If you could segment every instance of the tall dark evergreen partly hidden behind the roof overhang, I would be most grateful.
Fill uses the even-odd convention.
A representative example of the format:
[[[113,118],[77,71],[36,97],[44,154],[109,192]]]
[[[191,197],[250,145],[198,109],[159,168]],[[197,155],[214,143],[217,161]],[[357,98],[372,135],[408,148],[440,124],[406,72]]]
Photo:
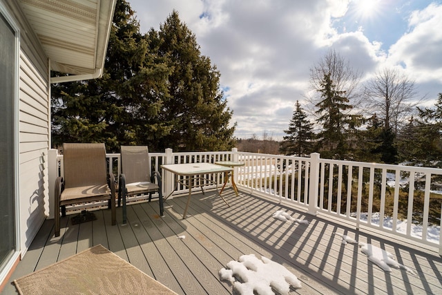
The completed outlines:
[[[135,141],[131,99],[147,50],[139,31],[131,7],[117,1],[102,78],[52,86],[52,144],[104,142],[115,152]]]

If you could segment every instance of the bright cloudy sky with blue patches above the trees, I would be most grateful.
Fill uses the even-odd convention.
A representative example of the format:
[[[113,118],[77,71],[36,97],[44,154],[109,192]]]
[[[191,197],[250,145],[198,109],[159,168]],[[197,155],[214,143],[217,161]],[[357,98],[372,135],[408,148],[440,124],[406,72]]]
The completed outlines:
[[[238,139],[282,140],[310,69],[335,50],[362,73],[383,68],[415,82],[421,106],[442,93],[442,0],[128,0],[140,31],[173,10],[220,70]],[[314,118],[311,117],[314,122]]]

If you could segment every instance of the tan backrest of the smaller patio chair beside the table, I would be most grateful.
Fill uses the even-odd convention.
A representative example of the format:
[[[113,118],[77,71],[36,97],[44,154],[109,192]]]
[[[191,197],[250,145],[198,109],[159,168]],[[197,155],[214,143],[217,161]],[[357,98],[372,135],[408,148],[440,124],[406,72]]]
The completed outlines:
[[[121,146],[122,173],[126,183],[151,181],[147,146]]]

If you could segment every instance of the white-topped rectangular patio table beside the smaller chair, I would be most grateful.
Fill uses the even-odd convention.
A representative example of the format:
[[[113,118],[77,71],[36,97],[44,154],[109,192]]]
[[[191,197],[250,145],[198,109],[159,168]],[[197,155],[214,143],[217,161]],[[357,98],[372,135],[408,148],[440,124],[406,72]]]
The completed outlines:
[[[161,165],[161,168],[175,175],[175,188],[171,193],[169,193],[169,196],[167,196],[164,200],[167,200],[172,195],[172,193],[176,191],[178,184],[182,184],[184,187],[189,188],[189,197],[187,198],[186,208],[184,209],[184,213],[182,215],[183,219],[186,218],[187,209],[189,208],[189,203],[191,201],[193,182],[195,180],[200,181],[199,184],[203,194],[204,194],[204,189],[202,188],[203,181],[215,183],[216,191],[218,192],[218,195],[222,198],[220,192],[218,191],[218,182],[209,179],[205,175],[210,175],[210,174],[213,175],[216,173],[225,173],[233,171],[233,168],[231,167],[221,166],[211,163],[164,164]],[[184,178],[180,179],[178,178],[178,176],[184,176]],[[230,207],[229,203],[224,198],[222,198],[222,200],[224,200],[227,206]]]

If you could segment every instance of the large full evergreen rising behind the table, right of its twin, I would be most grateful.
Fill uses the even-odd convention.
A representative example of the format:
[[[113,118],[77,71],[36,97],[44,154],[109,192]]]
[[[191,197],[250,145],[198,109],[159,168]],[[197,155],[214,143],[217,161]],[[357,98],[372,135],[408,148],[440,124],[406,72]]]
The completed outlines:
[[[151,30],[151,44],[168,58],[172,69],[168,78],[169,97],[162,104],[160,122],[170,133],[162,138],[161,149],[182,151],[218,151],[233,147],[229,127],[232,112],[220,91],[220,72],[209,57],[200,54],[195,35],[173,11],[160,26]]]

